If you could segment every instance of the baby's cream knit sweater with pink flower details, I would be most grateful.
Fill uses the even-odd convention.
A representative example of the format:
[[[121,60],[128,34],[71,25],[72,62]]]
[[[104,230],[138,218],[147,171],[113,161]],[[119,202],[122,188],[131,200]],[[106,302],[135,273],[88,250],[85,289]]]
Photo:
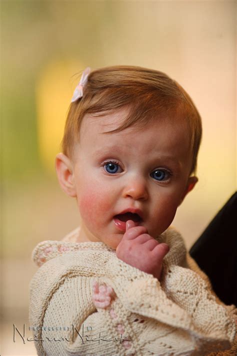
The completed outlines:
[[[170,247],[160,282],[103,242],[39,243],[29,316],[38,355],[204,356],[230,348],[234,320],[187,268],[181,236],[168,228],[157,240]]]

